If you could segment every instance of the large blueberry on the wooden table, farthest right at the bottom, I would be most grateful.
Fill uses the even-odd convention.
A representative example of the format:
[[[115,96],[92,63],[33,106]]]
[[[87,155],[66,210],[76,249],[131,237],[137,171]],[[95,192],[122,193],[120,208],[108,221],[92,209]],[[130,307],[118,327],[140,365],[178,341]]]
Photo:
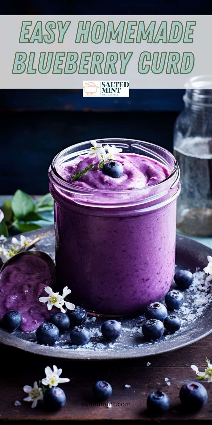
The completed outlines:
[[[180,401],[188,410],[198,410],[208,399],[206,388],[199,382],[189,382],[180,389]]]

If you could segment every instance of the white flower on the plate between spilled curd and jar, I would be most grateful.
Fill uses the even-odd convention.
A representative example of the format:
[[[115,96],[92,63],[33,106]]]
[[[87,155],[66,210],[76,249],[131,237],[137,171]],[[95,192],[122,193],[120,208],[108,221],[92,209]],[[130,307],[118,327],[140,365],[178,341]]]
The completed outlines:
[[[63,289],[63,294],[59,295],[59,292],[53,292],[53,290],[50,288],[50,286],[45,287],[45,292],[49,295],[48,297],[40,297],[39,301],[41,303],[47,303],[47,309],[51,310],[53,306],[57,307],[61,310],[62,313],[65,313],[66,310],[64,310],[63,305],[65,304],[66,308],[68,310],[74,310],[75,305],[73,303],[69,303],[68,301],[65,301],[64,298],[71,293],[71,290],[68,289],[67,286]]]

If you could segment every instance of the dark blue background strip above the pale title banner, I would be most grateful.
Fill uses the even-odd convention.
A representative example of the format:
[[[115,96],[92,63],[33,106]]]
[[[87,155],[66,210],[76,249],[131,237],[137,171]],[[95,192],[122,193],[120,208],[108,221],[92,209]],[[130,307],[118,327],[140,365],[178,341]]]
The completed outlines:
[[[1,14],[210,14],[211,0],[10,0]]]

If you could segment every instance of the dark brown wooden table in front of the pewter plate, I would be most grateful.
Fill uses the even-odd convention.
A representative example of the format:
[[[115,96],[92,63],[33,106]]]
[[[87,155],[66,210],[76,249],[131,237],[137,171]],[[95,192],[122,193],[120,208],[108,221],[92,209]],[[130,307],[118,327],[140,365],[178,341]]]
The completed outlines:
[[[191,364],[200,369],[205,367],[206,357],[212,355],[212,335],[198,343],[178,351],[141,360],[116,361],[68,361],[39,357],[1,346],[0,373],[0,419],[5,420],[95,420],[95,419],[135,419],[143,422],[211,420],[212,383],[204,383],[208,390],[208,402],[200,411],[188,414],[179,401],[179,390],[185,381],[196,380]],[[147,366],[147,362],[151,365]],[[31,409],[31,403],[23,402],[24,385],[33,385],[35,380],[45,377],[44,368],[56,363],[63,369],[62,376],[70,382],[62,384],[67,402],[58,412],[45,412],[42,403]],[[169,378],[168,386],[165,378]],[[97,380],[106,380],[113,387],[112,408],[89,406],[93,403],[91,388]],[[126,388],[125,385],[131,385]],[[153,390],[162,389],[170,397],[170,410],[159,418],[152,417],[146,410],[146,399]],[[14,401],[22,402],[14,406]],[[122,403],[122,405],[118,405]]]

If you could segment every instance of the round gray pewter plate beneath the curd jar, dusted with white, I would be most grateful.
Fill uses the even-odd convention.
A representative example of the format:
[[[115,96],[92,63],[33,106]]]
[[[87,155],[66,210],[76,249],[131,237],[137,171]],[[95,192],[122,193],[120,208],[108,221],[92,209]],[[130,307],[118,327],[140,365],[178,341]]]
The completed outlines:
[[[31,240],[37,235],[41,235],[42,239],[33,249],[45,251],[54,259],[54,227],[46,227],[25,234]],[[4,241],[4,245],[10,247],[11,238]],[[10,334],[0,329],[0,343],[34,354],[73,360],[149,357],[192,344],[212,332],[212,282],[205,282],[205,274],[202,271],[207,265],[207,255],[212,256],[212,249],[185,236],[176,236],[176,270],[190,269],[192,273],[195,273],[195,278],[193,285],[184,292],[184,304],[176,313],[181,318],[182,326],[175,334],[165,333],[156,342],[145,342],[141,330],[144,316],[141,315],[119,319],[123,327],[122,335],[116,341],[109,343],[100,331],[101,324],[106,319],[89,316],[86,326],[91,331],[91,339],[86,346],[73,346],[68,331],[53,347],[50,347],[39,345],[35,332],[25,334],[17,330]],[[176,288],[175,283],[173,288]]]

